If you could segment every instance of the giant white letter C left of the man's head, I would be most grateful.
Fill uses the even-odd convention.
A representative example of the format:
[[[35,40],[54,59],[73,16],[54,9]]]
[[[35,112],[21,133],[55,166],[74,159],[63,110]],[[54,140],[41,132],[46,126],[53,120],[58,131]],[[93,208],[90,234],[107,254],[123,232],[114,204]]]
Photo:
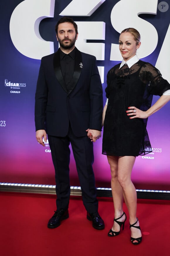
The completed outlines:
[[[14,9],[10,19],[11,40],[16,49],[32,59],[54,52],[54,43],[39,33],[42,19],[54,17],[55,0],[25,0]]]

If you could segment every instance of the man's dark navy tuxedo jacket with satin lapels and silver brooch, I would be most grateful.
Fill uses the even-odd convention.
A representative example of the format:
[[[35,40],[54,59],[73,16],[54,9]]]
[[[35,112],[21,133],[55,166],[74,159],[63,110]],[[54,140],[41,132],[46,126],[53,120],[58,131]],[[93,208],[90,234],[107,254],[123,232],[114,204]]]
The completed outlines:
[[[35,94],[35,128],[65,137],[69,122],[74,135],[101,130],[103,91],[96,58],[76,49],[72,83],[67,91],[60,69],[59,50],[41,60]]]

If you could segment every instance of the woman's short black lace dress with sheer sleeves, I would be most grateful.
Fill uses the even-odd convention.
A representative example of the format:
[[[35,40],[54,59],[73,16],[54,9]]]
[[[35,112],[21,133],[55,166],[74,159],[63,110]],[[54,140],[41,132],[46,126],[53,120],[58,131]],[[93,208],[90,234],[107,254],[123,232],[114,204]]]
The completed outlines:
[[[131,68],[125,64],[107,74],[108,106],[103,128],[102,154],[138,156],[152,152],[147,134],[147,119],[130,119],[126,111],[135,106],[142,111],[151,107],[152,97],[170,89],[158,69],[139,60]]]

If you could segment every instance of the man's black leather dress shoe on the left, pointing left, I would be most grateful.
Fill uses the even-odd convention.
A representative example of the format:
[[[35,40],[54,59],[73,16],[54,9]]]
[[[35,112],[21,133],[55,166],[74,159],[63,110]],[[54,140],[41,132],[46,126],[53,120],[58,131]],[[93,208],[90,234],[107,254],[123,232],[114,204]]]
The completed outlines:
[[[69,217],[68,210],[57,210],[52,218],[49,220],[47,227],[55,228],[60,226],[61,220],[66,220]]]

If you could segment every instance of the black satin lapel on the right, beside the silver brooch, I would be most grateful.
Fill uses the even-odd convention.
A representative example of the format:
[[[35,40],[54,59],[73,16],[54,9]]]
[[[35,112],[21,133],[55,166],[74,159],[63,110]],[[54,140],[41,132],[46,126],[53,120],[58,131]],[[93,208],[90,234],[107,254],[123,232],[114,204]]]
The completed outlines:
[[[81,74],[81,67],[80,67],[80,63],[82,64],[82,56],[81,56],[81,51],[79,51],[77,48],[76,48],[76,56],[75,56],[75,67],[74,67],[74,74],[73,74],[73,77],[72,77],[72,81],[71,81],[71,84],[69,86],[69,92],[72,92],[72,90],[74,89],[74,87],[76,86],[78,80],[79,80],[79,77],[80,77],[80,74]]]

